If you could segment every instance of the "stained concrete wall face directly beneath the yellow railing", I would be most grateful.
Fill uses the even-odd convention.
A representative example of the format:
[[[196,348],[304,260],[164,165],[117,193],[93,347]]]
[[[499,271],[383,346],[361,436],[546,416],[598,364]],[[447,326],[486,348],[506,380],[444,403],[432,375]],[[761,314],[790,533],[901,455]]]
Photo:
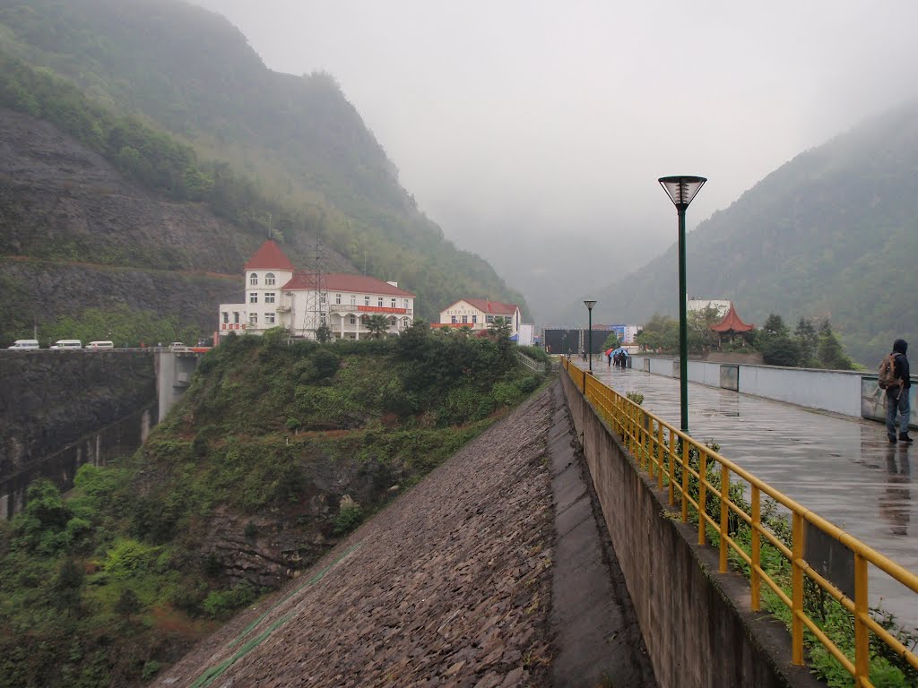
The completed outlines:
[[[610,538],[661,688],[818,686],[790,664],[777,621],[750,611],[742,576],[717,572],[717,552],[667,515],[610,428],[561,374]]]

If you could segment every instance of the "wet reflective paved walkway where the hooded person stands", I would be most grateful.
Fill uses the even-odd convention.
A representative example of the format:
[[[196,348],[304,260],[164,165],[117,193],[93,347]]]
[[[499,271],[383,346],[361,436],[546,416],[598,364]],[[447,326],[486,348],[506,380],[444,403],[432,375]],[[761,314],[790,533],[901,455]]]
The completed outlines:
[[[600,358],[601,361],[601,358]],[[576,362],[581,368],[587,364]],[[593,373],[678,427],[679,381],[643,371]],[[873,549],[918,571],[918,442],[890,445],[879,423],[823,414],[689,383],[689,432],[723,456],[811,508]],[[870,604],[918,627],[918,598],[881,571],[870,573]]]

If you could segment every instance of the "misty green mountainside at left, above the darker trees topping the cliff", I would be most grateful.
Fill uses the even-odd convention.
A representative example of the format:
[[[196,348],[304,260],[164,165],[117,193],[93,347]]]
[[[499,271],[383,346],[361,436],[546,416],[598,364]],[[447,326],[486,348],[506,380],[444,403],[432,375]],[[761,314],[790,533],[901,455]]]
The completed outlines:
[[[106,153],[135,178],[206,199],[246,231],[270,224],[297,265],[311,265],[320,233],[353,264],[365,260],[370,274],[418,294],[428,319],[463,296],[522,304],[420,213],[329,75],[267,70],[221,17],[177,0],[19,0],[0,8],[0,50],[62,75],[95,107],[126,118],[118,121],[168,130],[185,142],[179,157],[190,147],[200,160],[226,161],[169,158],[175,169],[157,175],[143,146],[116,141]],[[6,102],[30,105],[14,95]],[[75,133],[66,117],[63,125]],[[142,138],[158,145],[161,136]]]

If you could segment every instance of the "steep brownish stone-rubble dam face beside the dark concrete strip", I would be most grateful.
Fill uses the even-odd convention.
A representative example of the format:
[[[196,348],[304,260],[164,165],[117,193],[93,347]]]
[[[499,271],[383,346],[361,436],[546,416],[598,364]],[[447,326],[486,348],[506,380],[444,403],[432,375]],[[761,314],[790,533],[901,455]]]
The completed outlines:
[[[156,685],[548,684],[552,410],[521,405]]]

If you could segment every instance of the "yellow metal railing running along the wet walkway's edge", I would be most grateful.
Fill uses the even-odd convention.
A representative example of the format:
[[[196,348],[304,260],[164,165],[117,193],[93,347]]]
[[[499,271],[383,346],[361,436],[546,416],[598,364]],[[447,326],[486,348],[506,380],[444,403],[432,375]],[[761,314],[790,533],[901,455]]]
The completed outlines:
[[[700,444],[665,420],[645,411],[626,396],[618,394],[609,386],[600,383],[586,371],[577,368],[571,361],[562,360],[562,366],[580,391],[593,405],[597,414],[621,438],[625,448],[632,454],[638,467],[647,471],[659,490],[665,488],[670,506],[678,502],[683,522],[689,515],[698,517],[698,542],[708,544],[707,534],[713,534],[712,544],[720,549],[720,571],[727,571],[731,552],[749,567],[752,594],[752,608],[761,607],[762,584],[764,583],[790,611],[791,660],[803,664],[804,628],[817,638],[823,647],[845,667],[858,687],[871,687],[869,680],[870,634],[873,633],[895,654],[918,670],[918,656],[902,644],[899,638],[882,627],[871,616],[868,608],[868,564],[901,583],[912,593],[918,594],[918,576],[904,569],[895,561],[869,548],[857,538],[845,533],[839,527],[812,513],[788,496],[762,482],[752,473],[710,447]],[[693,465],[694,464],[694,465]],[[719,467],[719,468],[718,468]],[[712,482],[711,472],[720,474],[720,480]],[[730,494],[733,477],[748,485],[750,503],[747,512],[744,505],[737,504]],[[718,484],[719,483],[719,484]],[[739,483],[742,484],[742,483]],[[762,495],[773,499],[786,508],[791,515],[790,546],[768,526],[762,518]],[[711,516],[709,502],[720,503],[719,513]],[[751,547],[746,551],[731,536],[731,518],[742,521],[751,529]],[[834,583],[827,580],[804,557],[804,527],[809,524],[834,538],[854,555],[854,599],[843,593]],[[710,528],[710,530],[709,530]],[[786,539],[786,538],[785,538]],[[790,565],[790,594],[762,567],[762,548],[770,545],[780,552]],[[831,595],[852,616],[854,631],[854,660],[851,660],[834,641],[828,638],[804,609],[804,581],[809,579],[826,594]]]

